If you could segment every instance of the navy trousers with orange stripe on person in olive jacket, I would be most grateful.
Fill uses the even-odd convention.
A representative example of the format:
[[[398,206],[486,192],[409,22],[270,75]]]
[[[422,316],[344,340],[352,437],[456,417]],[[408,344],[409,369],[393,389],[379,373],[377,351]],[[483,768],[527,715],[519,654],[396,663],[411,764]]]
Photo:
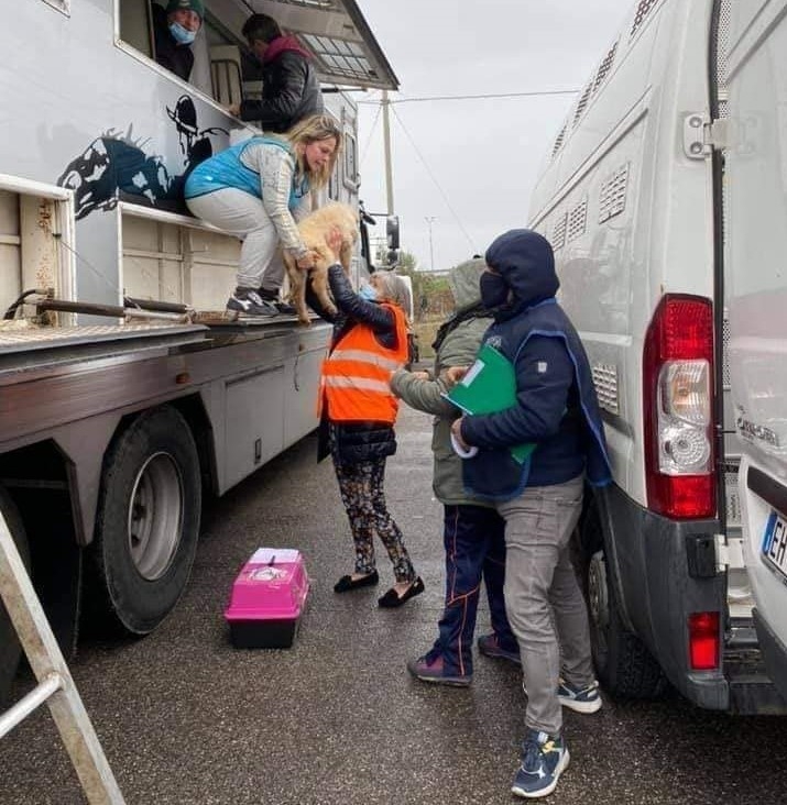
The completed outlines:
[[[446,606],[439,637],[429,659],[441,657],[447,675],[472,674],[472,641],[481,577],[502,648],[516,651],[516,638],[505,615],[505,521],[483,506],[446,506],[442,540],[446,549]]]

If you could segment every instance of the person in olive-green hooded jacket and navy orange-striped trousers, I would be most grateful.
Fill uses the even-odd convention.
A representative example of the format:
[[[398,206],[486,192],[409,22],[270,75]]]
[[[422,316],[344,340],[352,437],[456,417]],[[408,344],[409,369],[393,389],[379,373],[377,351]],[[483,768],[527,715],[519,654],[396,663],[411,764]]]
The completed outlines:
[[[479,291],[483,269],[483,260],[471,260],[451,269],[448,282],[456,312],[437,331],[434,373],[400,370],[391,377],[397,397],[435,417],[433,488],[444,506],[445,609],[435,644],[423,657],[411,660],[407,670],[424,682],[459,686],[472,680],[472,639],[482,576],[492,633],[478,639],[479,651],[520,664],[520,649],[503,599],[505,523],[493,504],[474,500],[462,487],[461,459],[450,443],[451,422],[460,411],[442,397],[448,390],[444,370],[471,363],[492,323]]]

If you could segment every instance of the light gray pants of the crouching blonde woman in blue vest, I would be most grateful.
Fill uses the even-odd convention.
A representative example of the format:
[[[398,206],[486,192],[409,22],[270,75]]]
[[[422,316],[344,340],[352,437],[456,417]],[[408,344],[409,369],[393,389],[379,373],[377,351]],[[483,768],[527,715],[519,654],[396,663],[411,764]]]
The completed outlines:
[[[227,187],[186,200],[197,218],[243,241],[238,266],[242,288],[278,290],[284,282],[284,263],[278,253],[278,234],[254,196]]]

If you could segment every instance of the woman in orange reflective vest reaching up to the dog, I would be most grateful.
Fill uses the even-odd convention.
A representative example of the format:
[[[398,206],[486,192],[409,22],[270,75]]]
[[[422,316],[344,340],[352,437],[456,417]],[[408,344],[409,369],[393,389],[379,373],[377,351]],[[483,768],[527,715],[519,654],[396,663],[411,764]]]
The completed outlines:
[[[332,232],[327,240],[338,252],[340,233]],[[379,583],[376,533],[395,578],[378,604],[400,607],[424,592],[402,531],[385,505],[384,492],[385,460],[396,452],[394,423],[398,411],[389,378],[407,360],[407,286],[395,274],[375,272],[356,294],[338,262],[328,268],[328,282],[336,316],[323,308],[308,287],[307,301],[334,324],[331,348],[323,364],[320,409],[356,547],[354,571],[341,576],[334,591],[347,593]]]

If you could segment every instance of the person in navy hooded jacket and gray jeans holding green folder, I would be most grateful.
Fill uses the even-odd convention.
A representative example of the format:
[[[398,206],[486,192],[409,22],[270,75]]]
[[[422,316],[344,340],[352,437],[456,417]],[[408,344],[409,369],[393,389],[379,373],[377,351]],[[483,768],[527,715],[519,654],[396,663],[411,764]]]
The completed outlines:
[[[527,692],[518,796],[551,793],[568,765],[561,705],[601,707],[588,614],[569,555],[586,481],[610,482],[603,427],[579,335],[555,299],[560,285],[549,243],[511,230],[487,251],[481,298],[494,323],[483,343],[516,372],[517,405],[463,416],[452,433],[478,453],[462,464],[470,493],[493,500],[505,520],[505,607],[520,643]],[[462,370],[449,370],[457,379]],[[536,448],[524,464],[510,448]]]

